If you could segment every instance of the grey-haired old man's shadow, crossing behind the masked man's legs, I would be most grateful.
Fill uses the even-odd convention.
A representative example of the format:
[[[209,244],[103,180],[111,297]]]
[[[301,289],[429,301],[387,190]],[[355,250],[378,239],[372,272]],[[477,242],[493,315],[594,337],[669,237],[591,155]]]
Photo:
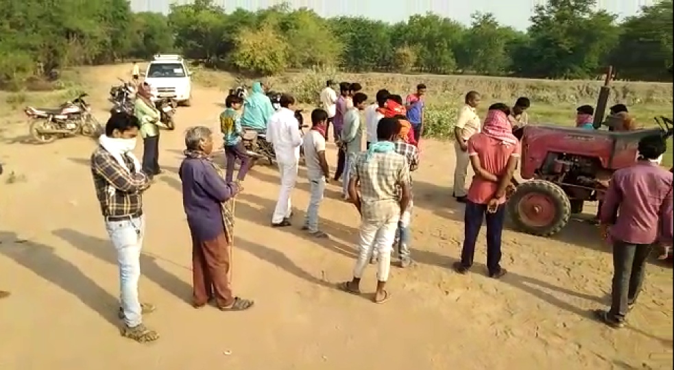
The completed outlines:
[[[110,240],[99,239],[95,236],[82,234],[81,232],[72,229],[56,230],[53,234],[66,240],[73,247],[80,249],[80,251],[117,266],[117,255],[115,249],[110,244]],[[176,296],[181,301],[191,304],[192,286],[160,267],[157,264],[156,259],[157,258],[154,256],[148,256],[145,253],[141,253],[142,275],[149,278],[149,280],[152,280],[155,284],[161,286],[165,291]]]

